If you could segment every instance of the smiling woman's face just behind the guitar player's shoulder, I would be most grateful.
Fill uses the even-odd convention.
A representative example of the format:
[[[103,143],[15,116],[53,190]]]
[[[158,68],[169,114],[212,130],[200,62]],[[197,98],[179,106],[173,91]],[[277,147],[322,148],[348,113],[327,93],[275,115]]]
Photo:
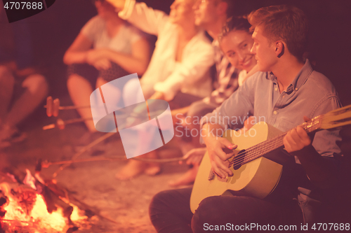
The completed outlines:
[[[257,61],[251,53],[253,38],[251,34],[243,30],[233,30],[220,41],[220,48],[228,57],[230,63],[237,69],[251,71]]]

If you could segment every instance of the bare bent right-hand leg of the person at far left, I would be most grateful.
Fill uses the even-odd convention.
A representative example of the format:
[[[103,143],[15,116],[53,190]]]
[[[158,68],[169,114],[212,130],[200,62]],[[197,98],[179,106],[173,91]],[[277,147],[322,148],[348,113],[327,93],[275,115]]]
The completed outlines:
[[[25,92],[15,101],[6,117],[6,122],[10,127],[15,127],[27,118],[48,94],[48,83],[40,74],[28,76],[22,82],[22,87],[25,88]]]

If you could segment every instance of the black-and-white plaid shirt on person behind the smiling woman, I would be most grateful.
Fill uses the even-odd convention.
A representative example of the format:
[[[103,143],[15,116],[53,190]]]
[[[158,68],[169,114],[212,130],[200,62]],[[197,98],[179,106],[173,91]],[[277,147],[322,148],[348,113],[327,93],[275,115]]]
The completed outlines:
[[[239,87],[239,70],[235,69],[219,48],[218,41],[212,43],[215,49],[215,62],[217,70],[217,80],[214,83],[215,90],[209,99],[211,104],[220,106]]]

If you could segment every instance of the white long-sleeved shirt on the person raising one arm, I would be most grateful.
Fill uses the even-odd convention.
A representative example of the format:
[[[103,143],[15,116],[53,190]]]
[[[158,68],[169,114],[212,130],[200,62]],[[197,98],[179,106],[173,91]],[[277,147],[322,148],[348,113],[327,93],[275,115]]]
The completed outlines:
[[[198,97],[211,94],[208,69],[214,63],[214,50],[204,31],[187,43],[182,62],[176,62],[177,25],[169,22],[166,13],[148,8],[145,3],[126,0],[119,17],[157,36],[150,64],[141,78],[146,96],[154,91],[163,92],[166,101],[170,101],[179,91]]]

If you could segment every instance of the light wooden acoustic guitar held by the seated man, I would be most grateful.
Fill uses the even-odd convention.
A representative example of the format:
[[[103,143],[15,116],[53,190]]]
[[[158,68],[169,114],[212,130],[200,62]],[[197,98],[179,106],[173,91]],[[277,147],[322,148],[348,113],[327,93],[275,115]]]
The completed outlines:
[[[319,115],[301,126],[307,133],[319,129],[333,129],[351,124],[351,105]],[[287,132],[258,122],[246,133],[228,129],[223,137],[237,145],[234,155],[228,160],[233,176],[227,181],[216,178],[211,169],[208,153],[204,155],[190,197],[192,213],[206,197],[231,195],[229,190],[240,191],[251,197],[263,199],[276,188],[282,176],[283,165],[263,157],[284,147]]]

